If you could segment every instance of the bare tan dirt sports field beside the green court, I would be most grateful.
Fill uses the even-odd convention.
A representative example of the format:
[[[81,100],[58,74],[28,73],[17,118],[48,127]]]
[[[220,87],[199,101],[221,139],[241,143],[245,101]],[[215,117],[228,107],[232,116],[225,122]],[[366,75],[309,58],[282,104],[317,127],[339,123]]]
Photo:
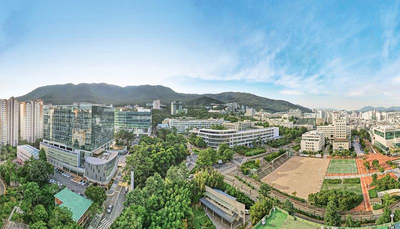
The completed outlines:
[[[296,191],[296,196],[306,199],[309,193],[319,191],[319,168],[323,180],[328,164],[329,159],[293,156],[263,177],[262,181],[274,184],[274,187],[289,194]]]

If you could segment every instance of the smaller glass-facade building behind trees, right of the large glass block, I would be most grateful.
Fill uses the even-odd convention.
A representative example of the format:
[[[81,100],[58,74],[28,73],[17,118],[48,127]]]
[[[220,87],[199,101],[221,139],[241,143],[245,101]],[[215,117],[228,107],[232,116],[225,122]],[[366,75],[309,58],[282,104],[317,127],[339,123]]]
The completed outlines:
[[[151,134],[151,111],[143,109],[143,111],[115,109],[114,112],[115,131],[127,130],[133,132],[136,136]]]

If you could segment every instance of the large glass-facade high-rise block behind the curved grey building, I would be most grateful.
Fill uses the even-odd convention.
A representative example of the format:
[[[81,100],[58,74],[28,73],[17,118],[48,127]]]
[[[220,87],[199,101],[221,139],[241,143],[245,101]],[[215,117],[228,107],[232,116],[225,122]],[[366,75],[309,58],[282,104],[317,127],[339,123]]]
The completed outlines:
[[[47,160],[83,173],[85,157],[107,149],[114,137],[114,108],[94,104],[43,107],[43,142]]]

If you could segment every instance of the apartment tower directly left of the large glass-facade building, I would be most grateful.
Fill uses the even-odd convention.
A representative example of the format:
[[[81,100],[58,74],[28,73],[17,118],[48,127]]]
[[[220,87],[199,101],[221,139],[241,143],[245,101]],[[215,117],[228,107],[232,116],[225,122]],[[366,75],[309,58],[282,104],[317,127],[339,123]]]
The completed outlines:
[[[43,100],[19,104],[19,139],[34,142],[43,137]]]

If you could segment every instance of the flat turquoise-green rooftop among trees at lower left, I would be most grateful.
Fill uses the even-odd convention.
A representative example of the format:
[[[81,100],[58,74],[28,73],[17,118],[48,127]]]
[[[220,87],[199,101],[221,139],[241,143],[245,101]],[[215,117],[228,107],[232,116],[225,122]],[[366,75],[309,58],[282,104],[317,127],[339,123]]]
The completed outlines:
[[[67,188],[56,193],[54,197],[62,202],[59,206],[65,206],[72,212],[72,219],[74,221],[79,220],[93,202]]]

